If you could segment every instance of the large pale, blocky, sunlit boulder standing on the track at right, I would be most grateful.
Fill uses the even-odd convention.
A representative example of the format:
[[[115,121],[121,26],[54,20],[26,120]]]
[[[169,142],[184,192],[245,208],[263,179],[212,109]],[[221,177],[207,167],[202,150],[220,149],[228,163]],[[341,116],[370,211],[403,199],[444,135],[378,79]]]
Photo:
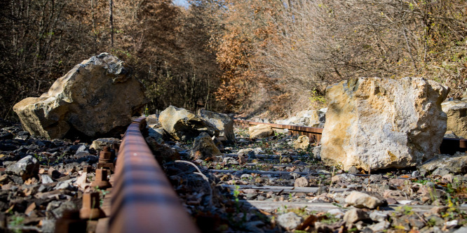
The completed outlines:
[[[441,102],[448,92],[424,78],[353,78],[327,87],[321,158],[345,170],[421,164],[446,132]]]

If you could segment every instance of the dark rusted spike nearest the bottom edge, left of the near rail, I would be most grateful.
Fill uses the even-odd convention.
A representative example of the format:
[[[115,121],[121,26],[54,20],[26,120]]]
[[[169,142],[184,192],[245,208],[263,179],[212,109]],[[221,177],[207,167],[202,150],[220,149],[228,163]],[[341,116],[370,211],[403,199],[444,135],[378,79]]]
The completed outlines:
[[[55,233],[86,232],[86,220],[79,218],[79,211],[65,211],[55,223]]]

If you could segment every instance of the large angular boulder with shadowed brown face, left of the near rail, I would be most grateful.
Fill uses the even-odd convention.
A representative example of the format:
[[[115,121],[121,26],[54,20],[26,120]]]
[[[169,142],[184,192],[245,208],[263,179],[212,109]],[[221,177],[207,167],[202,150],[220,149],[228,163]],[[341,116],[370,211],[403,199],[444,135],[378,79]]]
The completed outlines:
[[[143,105],[142,83],[131,76],[130,67],[102,53],[77,64],[48,92],[23,99],[13,110],[31,134],[61,139],[74,132],[95,138],[124,132]]]

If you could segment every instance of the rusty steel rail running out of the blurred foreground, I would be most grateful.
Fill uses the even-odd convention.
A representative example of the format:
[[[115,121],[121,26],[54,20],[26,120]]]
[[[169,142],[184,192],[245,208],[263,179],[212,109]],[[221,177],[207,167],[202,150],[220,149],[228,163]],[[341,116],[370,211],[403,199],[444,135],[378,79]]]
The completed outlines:
[[[109,232],[199,232],[165,177],[134,120],[117,159]]]

